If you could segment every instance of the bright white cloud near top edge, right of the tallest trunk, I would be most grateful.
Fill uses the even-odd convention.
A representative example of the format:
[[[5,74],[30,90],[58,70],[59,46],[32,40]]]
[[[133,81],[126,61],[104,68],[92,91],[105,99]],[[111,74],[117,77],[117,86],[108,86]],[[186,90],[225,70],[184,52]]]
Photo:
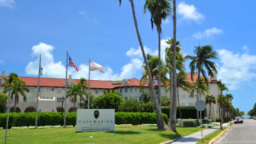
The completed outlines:
[[[204,16],[198,13],[194,5],[187,5],[185,2],[178,4],[178,14],[182,15],[182,20],[200,22]]]

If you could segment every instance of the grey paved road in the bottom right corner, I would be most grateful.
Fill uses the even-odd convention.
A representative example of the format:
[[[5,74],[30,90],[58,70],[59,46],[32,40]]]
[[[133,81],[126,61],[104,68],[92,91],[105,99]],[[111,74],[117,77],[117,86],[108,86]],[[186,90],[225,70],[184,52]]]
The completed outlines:
[[[256,120],[244,119],[241,124],[235,124],[214,144],[256,144]]]

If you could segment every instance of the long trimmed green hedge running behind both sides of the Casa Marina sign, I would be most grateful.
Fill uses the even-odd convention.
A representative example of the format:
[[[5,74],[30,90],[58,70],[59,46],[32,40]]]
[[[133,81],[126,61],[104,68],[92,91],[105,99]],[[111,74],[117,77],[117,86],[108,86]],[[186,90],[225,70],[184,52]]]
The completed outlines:
[[[66,113],[66,125],[76,125],[76,112]],[[162,114],[165,122],[168,122],[166,114]],[[7,114],[0,114],[0,127],[6,128]],[[133,124],[138,125],[141,122],[141,114],[139,112],[116,112],[116,124]],[[157,118],[155,113],[142,113],[142,123],[156,123]],[[35,113],[10,113],[9,128],[12,126],[34,126]],[[39,112],[38,126],[56,126],[62,124],[61,113],[54,112]]]

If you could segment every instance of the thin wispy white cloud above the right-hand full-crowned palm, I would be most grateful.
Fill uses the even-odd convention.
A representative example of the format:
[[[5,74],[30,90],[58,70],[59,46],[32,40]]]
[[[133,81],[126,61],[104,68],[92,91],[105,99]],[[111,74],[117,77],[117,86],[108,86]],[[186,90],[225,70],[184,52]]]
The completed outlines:
[[[216,35],[216,34],[222,34],[222,30],[220,30],[216,27],[213,27],[213,28],[204,30],[203,32],[199,31],[196,34],[193,34],[193,37],[197,38],[197,39],[210,38],[211,36]]]

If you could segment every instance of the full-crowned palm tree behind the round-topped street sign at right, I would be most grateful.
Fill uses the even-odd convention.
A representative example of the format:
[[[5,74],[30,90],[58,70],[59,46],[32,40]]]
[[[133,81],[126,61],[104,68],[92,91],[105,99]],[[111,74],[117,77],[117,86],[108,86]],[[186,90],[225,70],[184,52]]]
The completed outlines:
[[[212,50],[212,46],[196,46],[194,50],[196,56],[187,55],[186,58],[190,59],[190,70],[191,78],[193,80],[194,71],[198,70],[198,80],[197,84],[199,85],[200,74],[202,74],[205,82],[208,83],[206,78],[206,71],[210,76],[214,76],[214,73],[217,73],[216,65],[214,62],[211,62],[211,59],[217,59],[217,53]],[[206,70],[204,70],[206,68]],[[198,100],[199,91],[197,90],[197,100]],[[197,112],[198,119],[198,112]]]

